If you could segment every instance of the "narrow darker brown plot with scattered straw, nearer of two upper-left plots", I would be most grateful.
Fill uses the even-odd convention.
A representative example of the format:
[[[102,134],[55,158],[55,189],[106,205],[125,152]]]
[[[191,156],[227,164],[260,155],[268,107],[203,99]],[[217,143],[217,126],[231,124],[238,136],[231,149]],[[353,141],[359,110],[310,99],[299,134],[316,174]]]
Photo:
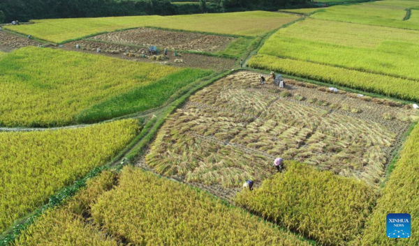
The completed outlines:
[[[174,56],[174,52],[168,52],[168,56],[150,56],[148,57],[148,49],[142,47],[133,47],[126,45],[117,45],[111,43],[94,42],[91,40],[79,40],[66,43],[64,49],[78,50],[75,45],[80,45],[82,52],[97,54],[97,48],[101,49],[101,54],[116,57],[119,59],[128,59],[134,61],[159,63],[163,65],[171,65],[181,68],[203,68],[212,70],[228,70],[235,65],[235,59],[222,58],[217,56],[206,56],[202,54],[191,54],[178,52],[178,56]],[[145,58],[142,58],[142,55]],[[160,53],[161,54],[161,53]]]

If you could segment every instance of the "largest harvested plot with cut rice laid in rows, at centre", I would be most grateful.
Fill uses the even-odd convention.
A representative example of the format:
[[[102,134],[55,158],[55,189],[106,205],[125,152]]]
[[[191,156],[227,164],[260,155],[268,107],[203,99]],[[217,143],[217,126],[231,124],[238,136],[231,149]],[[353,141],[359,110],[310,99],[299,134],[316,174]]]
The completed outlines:
[[[286,84],[260,86],[254,72],[220,79],[168,118],[139,165],[225,199],[243,180],[272,176],[276,157],[378,187],[415,112],[388,100]]]

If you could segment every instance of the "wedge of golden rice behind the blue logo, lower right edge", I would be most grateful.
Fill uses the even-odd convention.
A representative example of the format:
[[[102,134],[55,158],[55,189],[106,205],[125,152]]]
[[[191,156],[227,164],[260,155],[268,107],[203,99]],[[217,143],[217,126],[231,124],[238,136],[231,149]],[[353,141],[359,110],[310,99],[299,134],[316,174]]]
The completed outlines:
[[[365,233],[360,237],[362,245],[418,245],[419,244],[419,125],[411,132],[404,144],[400,158],[390,178],[381,190],[381,197],[372,216],[366,223]],[[385,232],[385,216],[388,213],[410,213],[411,237],[389,240]]]

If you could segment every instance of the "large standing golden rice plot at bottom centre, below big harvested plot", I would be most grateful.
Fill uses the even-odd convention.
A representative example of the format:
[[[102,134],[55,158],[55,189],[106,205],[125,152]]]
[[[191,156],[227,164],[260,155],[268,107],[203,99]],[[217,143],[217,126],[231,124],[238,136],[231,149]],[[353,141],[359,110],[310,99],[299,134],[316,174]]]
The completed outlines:
[[[133,167],[91,215],[133,245],[309,245],[206,192]]]

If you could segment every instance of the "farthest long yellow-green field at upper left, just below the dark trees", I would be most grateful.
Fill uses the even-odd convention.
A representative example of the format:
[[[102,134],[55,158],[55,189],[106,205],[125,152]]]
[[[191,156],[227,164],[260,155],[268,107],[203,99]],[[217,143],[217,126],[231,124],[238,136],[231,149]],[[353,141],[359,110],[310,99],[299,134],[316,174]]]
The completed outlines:
[[[96,33],[142,26],[184,31],[203,31],[239,36],[260,36],[289,22],[295,15],[265,11],[174,15],[127,16],[78,19],[34,20],[34,24],[7,26],[6,29],[60,43]]]

